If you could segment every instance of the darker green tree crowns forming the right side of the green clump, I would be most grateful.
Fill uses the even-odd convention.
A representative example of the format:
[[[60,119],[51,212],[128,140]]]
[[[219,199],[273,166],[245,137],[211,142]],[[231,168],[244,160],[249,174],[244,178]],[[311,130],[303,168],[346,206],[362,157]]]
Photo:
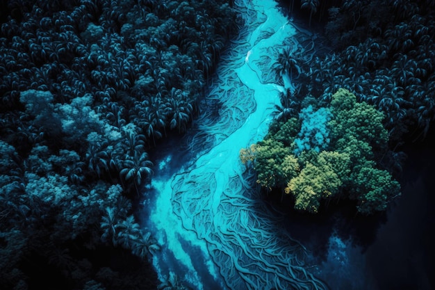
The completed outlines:
[[[334,120],[329,125],[335,148],[349,154],[352,162],[347,182],[350,197],[358,200],[362,214],[385,210],[391,197],[400,194],[400,185],[373,160],[375,152],[384,154],[387,148],[384,115],[365,102],[356,102],[356,97],[344,89],[332,96],[331,111]]]

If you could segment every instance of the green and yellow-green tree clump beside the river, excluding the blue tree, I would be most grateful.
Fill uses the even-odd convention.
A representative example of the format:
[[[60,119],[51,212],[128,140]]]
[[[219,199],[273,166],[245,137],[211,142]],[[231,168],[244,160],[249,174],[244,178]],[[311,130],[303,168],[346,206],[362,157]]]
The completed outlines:
[[[264,140],[241,150],[241,160],[252,163],[258,184],[267,191],[291,195],[297,210],[316,213],[322,200],[342,198],[356,200],[361,214],[385,210],[400,195],[400,184],[377,163],[388,151],[384,115],[356,102],[345,89],[332,96],[329,111],[331,139],[325,150],[299,152],[295,141],[301,121],[290,118],[275,122]]]

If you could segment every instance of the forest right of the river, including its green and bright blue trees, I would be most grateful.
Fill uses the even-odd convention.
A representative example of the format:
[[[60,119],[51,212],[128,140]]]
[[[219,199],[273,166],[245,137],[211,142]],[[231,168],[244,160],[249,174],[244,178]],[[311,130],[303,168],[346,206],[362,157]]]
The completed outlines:
[[[299,211],[353,200],[359,214],[374,214],[400,196],[404,146],[424,142],[434,123],[434,3],[333,2],[301,1],[297,12],[309,18],[299,21],[317,28],[295,53],[275,56],[268,76],[296,86],[280,94],[268,136],[240,159]]]

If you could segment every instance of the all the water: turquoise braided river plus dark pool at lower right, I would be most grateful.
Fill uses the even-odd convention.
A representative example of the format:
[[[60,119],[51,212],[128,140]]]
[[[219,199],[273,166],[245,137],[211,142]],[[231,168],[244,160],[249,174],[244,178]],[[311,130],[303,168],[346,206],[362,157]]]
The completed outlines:
[[[294,89],[289,76],[270,74],[277,55],[290,48],[311,59],[315,36],[275,1],[236,0],[234,9],[244,24],[220,54],[199,116],[153,154],[142,216],[161,247],[152,256],[161,289],[432,289],[424,265],[434,260],[433,243],[423,241],[435,220],[435,195],[427,194],[435,173],[422,170],[433,168],[433,149],[411,154],[402,201],[372,234],[363,224],[373,238],[364,248],[338,234],[337,220],[306,223],[266,202],[239,152],[264,138],[279,92]],[[350,229],[355,221],[338,218]]]

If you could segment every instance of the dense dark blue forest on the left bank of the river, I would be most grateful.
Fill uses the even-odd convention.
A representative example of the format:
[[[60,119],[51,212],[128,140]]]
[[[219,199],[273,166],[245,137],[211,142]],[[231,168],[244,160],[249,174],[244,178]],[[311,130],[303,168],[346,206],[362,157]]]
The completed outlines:
[[[2,1],[1,289],[156,289],[133,205],[236,33],[227,2]]]

